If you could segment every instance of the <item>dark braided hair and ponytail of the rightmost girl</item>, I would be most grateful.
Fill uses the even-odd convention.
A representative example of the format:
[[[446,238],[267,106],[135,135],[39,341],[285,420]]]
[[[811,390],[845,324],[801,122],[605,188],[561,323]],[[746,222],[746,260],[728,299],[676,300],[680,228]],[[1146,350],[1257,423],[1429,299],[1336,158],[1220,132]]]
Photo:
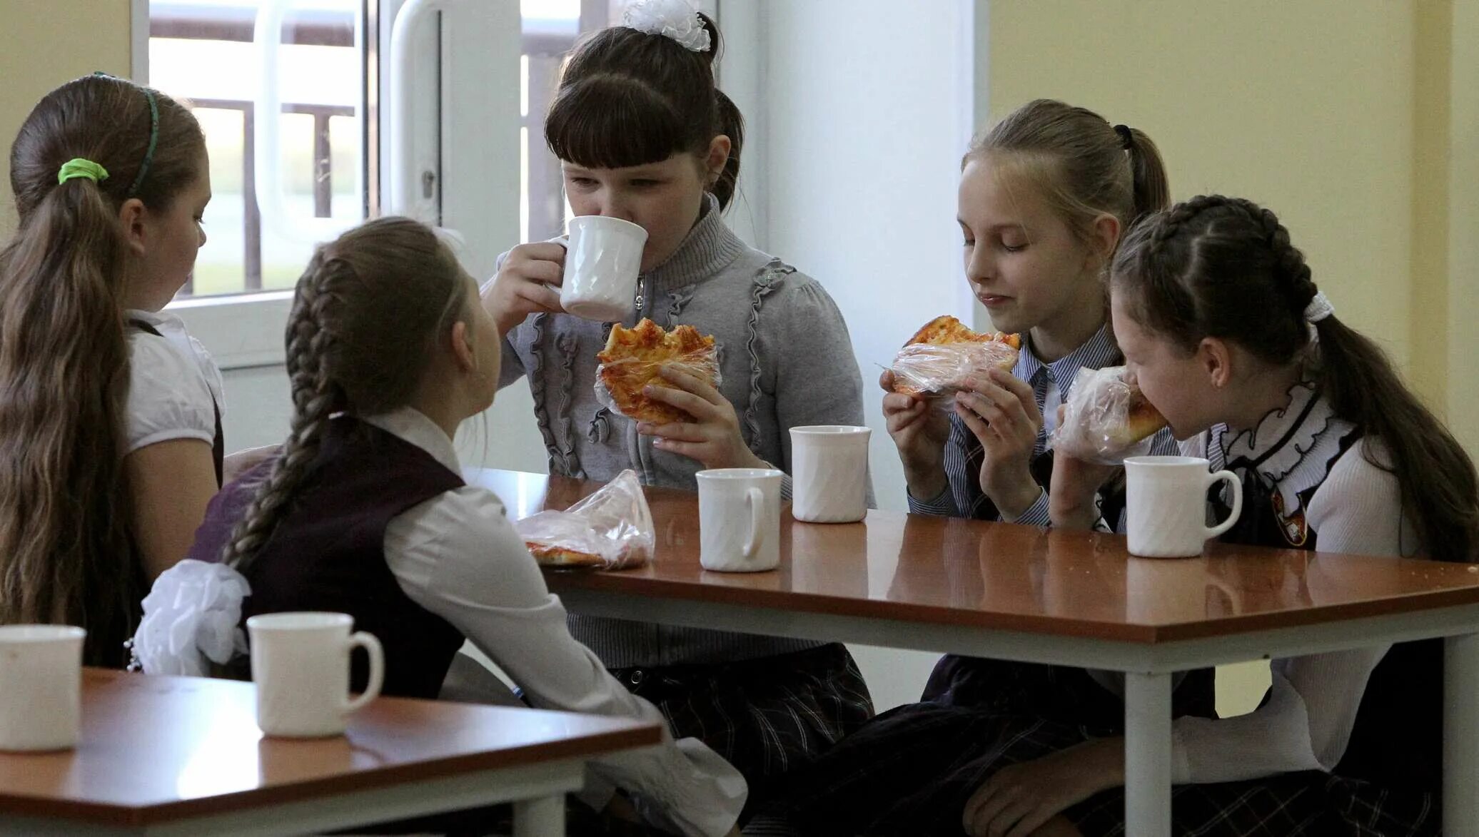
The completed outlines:
[[[1336,414],[1380,439],[1367,461],[1398,478],[1404,513],[1441,560],[1475,560],[1479,481],[1473,463],[1370,337],[1334,315],[1310,324],[1318,287],[1270,210],[1201,195],[1146,216],[1120,245],[1109,282],[1145,328],[1195,352],[1204,337],[1273,365],[1309,361]]]

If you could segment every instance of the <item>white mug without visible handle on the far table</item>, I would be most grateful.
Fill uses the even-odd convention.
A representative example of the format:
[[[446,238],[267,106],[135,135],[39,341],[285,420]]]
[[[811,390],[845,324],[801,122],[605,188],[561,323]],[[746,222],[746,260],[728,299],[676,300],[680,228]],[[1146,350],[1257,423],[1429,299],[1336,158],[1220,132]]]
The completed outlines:
[[[791,427],[791,515],[853,523],[868,513],[868,427]]]

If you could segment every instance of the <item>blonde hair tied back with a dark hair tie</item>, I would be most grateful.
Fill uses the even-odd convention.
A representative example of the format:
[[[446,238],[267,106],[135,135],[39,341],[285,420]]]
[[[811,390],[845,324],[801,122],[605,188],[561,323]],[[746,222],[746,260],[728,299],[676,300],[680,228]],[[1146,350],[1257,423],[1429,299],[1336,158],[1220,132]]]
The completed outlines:
[[[1139,129],[1111,126],[1089,108],[1035,99],[970,140],[961,169],[989,155],[1026,176],[1069,226],[1089,238],[1109,213],[1126,229],[1171,203],[1165,164]]]

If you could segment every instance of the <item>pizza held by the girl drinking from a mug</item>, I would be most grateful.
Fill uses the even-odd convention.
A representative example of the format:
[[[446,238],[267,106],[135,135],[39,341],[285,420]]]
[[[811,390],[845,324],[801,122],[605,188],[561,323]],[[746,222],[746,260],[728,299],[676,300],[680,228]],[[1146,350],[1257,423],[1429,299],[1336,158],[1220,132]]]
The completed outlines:
[[[596,359],[600,361],[600,387],[609,396],[611,407],[627,418],[652,424],[692,420],[688,413],[642,393],[648,384],[673,386],[663,377],[664,365],[683,367],[711,386],[717,386],[719,380],[714,337],[700,334],[692,325],[664,331],[651,319],[643,319],[633,328],[618,322],[611,328],[606,348],[596,353]]]

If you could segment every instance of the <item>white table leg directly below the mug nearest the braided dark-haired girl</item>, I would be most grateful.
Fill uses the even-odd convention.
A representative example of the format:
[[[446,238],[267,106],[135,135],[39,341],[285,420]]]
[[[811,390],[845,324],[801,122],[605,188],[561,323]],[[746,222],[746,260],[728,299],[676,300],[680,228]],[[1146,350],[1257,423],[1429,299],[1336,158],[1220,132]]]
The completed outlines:
[[[1171,834],[1171,676],[1124,676],[1124,833]]]

